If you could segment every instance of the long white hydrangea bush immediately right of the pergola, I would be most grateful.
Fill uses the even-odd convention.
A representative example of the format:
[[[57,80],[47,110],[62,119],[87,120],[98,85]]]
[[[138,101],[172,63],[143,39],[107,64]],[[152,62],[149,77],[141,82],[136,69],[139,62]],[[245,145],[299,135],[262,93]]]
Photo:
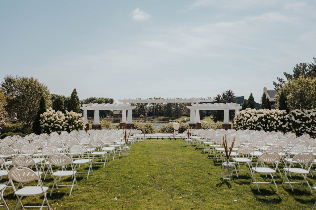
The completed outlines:
[[[237,129],[290,131],[290,116],[285,110],[250,109],[237,112],[234,117],[234,124]]]

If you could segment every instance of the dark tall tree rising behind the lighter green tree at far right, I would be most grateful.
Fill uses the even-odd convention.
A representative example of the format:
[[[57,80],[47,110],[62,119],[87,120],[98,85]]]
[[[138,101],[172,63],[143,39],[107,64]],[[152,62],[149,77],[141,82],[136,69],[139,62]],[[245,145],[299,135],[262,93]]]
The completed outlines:
[[[313,57],[314,62],[316,63],[316,58]],[[315,63],[300,63],[296,64],[293,68],[293,74],[289,74],[286,72],[283,72],[285,78],[287,81],[289,80],[296,80],[300,76],[303,77],[316,77],[316,64]],[[285,81],[283,78],[277,77],[277,82],[273,81],[274,89],[279,90],[287,81]]]

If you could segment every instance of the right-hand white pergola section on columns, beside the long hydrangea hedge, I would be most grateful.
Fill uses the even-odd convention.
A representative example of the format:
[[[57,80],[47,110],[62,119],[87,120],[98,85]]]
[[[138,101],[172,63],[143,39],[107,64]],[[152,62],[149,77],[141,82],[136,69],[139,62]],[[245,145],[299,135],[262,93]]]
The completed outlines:
[[[229,110],[235,110],[237,113],[241,106],[236,103],[206,103],[206,104],[191,104],[187,106],[190,109],[190,123],[200,122],[200,110],[224,110],[224,124],[229,123]]]

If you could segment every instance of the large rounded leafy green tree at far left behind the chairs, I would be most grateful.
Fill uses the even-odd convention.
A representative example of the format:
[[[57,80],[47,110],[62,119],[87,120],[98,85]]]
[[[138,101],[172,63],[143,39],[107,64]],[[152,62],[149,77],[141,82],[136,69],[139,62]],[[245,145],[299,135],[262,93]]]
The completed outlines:
[[[46,100],[46,106],[51,105],[47,86],[34,77],[6,75],[1,82],[1,91],[7,98],[6,110],[11,116],[16,116],[25,129],[34,122],[42,96]]]

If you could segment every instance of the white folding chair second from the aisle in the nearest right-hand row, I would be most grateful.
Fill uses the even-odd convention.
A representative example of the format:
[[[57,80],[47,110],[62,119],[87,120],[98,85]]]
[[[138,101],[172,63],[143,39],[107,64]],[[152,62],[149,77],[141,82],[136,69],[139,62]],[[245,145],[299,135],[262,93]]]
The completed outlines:
[[[283,179],[283,182],[282,182],[282,185],[284,183],[288,183],[290,184],[291,186],[291,189],[292,191],[294,192],[293,190],[293,187],[292,187],[292,184],[301,184],[301,186],[303,185],[304,181],[307,183],[309,189],[311,190],[311,193],[313,193],[312,191],[312,188],[311,186],[309,185],[306,177],[307,177],[307,174],[309,174],[309,170],[310,168],[312,167],[312,163],[314,161],[315,157],[313,155],[313,153],[311,152],[301,152],[301,153],[298,153],[297,155],[295,155],[293,158],[292,158],[292,161],[289,165],[289,167],[284,167],[283,170],[285,172],[285,177]],[[299,164],[301,167],[295,167],[294,164]],[[308,164],[310,164],[310,166],[308,167]],[[305,167],[304,167],[305,166]],[[288,178],[288,173],[298,173],[298,174],[301,174],[304,178],[303,182],[290,182],[289,178]],[[285,179],[287,179],[288,181],[285,182]]]

